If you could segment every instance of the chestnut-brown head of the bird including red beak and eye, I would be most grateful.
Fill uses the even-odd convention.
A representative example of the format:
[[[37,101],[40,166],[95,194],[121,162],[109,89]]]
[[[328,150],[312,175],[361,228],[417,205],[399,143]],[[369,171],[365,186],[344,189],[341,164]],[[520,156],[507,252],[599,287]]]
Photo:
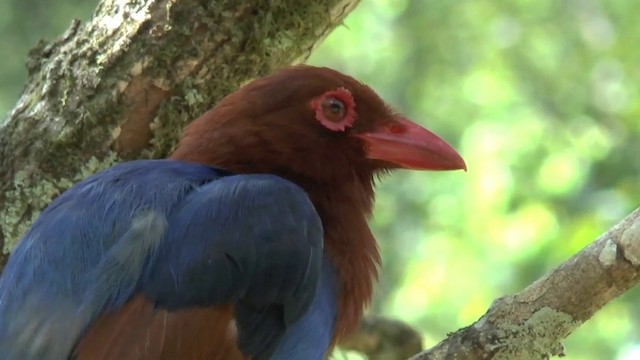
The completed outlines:
[[[252,81],[191,123],[173,158],[340,186],[379,171],[466,169],[443,139],[368,86],[295,66]]]

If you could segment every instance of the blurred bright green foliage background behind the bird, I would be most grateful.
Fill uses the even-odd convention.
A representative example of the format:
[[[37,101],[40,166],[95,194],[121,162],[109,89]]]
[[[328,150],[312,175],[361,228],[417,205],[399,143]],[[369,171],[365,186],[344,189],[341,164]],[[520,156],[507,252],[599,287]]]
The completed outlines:
[[[28,50],[95,4],[0,2],[0,113]],[[325,41],[311,63],[370,84],[469,167],[379,186],[372,311],[434,345],[640,204],[637,18],[627,0],[363,0]],[[640,359],[639,300],[631,291],[599,312],[565,342],[568,358]]]

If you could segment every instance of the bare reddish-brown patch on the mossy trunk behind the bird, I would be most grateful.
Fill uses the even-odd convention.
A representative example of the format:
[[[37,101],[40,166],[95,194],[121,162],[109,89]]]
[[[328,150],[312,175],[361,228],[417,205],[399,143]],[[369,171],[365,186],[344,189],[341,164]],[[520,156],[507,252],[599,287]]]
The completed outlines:
[[[125,119],[114,134],[113,150],[123,157],[134,157],[153,138],[154,119],[160,104],[170,93],[162,90],[145,76],[135,76],[124,90]]]

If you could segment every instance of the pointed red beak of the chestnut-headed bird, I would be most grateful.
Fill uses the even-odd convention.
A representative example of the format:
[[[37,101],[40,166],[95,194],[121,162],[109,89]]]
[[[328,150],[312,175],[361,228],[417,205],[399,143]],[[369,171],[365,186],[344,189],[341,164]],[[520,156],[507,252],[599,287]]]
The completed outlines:
[[[402,117],[355,136],[367,144],[367,157],[405,169],[467,171],[462,156],[438,135]]]

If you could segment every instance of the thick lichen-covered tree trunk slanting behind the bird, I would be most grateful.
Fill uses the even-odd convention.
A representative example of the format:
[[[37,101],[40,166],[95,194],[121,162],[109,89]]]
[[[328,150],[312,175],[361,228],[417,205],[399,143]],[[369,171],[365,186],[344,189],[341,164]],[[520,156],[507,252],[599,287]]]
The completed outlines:
[[[185,124],[304,60],[358,2],[105,0],[40,43],[0,124],[0,269],[54,197],[118,161],[165,157]]]

